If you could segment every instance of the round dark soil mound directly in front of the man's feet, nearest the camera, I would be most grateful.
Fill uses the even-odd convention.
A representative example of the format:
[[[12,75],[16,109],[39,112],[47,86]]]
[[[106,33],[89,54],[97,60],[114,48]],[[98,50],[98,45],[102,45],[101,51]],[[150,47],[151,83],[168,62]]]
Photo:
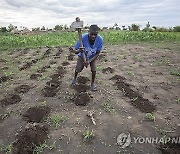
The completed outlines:
[[[90,101],[90,95],[88,93],[76,93],[72,100],[77,106],[86,106]]]

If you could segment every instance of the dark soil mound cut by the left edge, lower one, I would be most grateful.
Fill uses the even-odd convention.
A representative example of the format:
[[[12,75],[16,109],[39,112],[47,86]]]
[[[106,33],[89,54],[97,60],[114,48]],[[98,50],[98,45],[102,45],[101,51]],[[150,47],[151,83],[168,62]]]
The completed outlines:
[[[21,101],[21,97],[17,94],[10,94],[8,95],[6,98],[2,99],[0,101],[0,104],[2,106],[8,106],[11,104],[16,104],[19,103]]]

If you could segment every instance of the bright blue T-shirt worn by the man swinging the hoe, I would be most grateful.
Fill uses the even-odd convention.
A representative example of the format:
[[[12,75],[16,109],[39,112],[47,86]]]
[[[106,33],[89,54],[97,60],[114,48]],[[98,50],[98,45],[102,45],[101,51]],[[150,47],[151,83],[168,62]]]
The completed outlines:
[[[91,45],[89,43],[88,35],[89,34],[86,33],[82,36],[82,42],[83,42],[83,47],[85,48],[86,59],[90,60],[96,55],[97,51],[102,50],[103,39],[100,35],[97,35],[94,44]],[[75,45],[75,49],[78,50],[79,47],[80,47],[80,42],[78,41]],[[79,52],[78,56],[82,58],[82,53]]]

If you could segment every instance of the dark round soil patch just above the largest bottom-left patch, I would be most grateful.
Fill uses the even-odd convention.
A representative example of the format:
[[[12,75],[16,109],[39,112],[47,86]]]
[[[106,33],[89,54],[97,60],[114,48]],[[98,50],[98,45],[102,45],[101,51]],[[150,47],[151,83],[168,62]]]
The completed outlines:
[[[50,113],[48,106],[34,106],[29,108],[24,114],[23,118],[27,122],[41,122]]]

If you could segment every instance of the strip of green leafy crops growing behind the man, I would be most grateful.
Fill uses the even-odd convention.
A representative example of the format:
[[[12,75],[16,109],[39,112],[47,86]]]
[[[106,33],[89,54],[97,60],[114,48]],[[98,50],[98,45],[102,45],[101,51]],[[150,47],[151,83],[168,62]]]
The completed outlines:
[[[142,31],[103,31],[99,32],[104,43],[122,44],[138,42],[180,41],[180,33],[142,32]],[[78,40],[77,32],[53,32],[34,35],[3,34],[0,37],[0,50],[36,48],[39,46],[74,46]]]

